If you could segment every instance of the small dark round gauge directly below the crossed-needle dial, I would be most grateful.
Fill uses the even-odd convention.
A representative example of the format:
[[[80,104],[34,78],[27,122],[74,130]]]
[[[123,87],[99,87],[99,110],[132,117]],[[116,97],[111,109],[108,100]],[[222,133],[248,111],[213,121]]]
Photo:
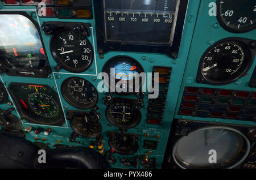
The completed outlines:
[[[113,133],[109,136],[109,147],[119,155],[132,155],[139,149],[138,137],[130,134]]]

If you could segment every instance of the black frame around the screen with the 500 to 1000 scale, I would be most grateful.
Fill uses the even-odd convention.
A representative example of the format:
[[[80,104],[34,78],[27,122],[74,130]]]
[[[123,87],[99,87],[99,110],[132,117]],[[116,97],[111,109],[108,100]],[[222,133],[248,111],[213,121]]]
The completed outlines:
[[[104,31],[104,1],[94,2],[94,13],[97,32],[97,49],[98,54],[104,54],[108,51],[125,51],[125,52],[148,52],[164,53],[176,59],[180,49],[181,35],[187,12],[188,0],[180,1],[177,22],[172,45],[148,45],[148,44],[128,44],[127,42],[111,42],[105,40]]]

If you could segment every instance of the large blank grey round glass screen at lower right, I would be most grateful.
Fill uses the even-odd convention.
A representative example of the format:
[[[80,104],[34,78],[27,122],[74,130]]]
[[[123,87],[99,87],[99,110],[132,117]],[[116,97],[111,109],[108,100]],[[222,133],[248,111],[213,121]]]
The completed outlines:
[[[216,163],[209,151],[216,151]],[[180,168],[234,168],[247,157],[250,142],[240,131],[229,127],[206,127],[183,136],[174,145],[172,157]]]

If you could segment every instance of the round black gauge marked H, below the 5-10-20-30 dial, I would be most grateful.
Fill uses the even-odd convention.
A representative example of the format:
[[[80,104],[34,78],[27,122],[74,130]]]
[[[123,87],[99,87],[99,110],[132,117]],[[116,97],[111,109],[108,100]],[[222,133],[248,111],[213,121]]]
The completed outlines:
[[[90,109],[98,102],[96,88],[88,80],[71,77],[61,84],[61,93],[65,100],[78,109]]]

